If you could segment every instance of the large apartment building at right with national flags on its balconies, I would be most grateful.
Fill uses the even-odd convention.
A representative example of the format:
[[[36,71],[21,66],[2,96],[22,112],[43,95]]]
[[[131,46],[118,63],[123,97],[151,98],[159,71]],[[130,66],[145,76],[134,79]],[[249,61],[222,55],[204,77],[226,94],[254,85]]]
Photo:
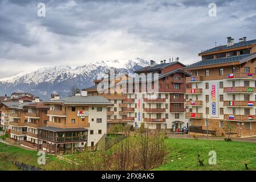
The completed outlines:
[[[199,53],[186,70],[191,130],[238,137],[256,135],[256,40],[227,38],[227,44]]]

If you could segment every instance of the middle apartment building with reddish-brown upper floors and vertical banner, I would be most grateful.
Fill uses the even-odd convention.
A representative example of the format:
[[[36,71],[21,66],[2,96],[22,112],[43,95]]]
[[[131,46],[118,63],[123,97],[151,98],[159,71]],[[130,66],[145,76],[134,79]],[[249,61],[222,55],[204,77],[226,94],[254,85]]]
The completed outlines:
[[[182,127],[188,126],[188,119],[185,118],[185,92],[189,88],[186,77],[191,75],[184,71],[184,67],[178,60],[169,63],[163,60],[160,64],[151,61],[150,66],[135,71],[139,76],[143,74],[146,77],[158,73],[151,84],[153,87],[154,80],[157,80],[159,89],[153,92],[148,90],[148,82],[143,80],[128,83],[125,93],[127,98],[123,100],[127,107],[122,109],[127,112],[124,120],[133,127],[140,127],[144,123],[149,129],[181,131]]]

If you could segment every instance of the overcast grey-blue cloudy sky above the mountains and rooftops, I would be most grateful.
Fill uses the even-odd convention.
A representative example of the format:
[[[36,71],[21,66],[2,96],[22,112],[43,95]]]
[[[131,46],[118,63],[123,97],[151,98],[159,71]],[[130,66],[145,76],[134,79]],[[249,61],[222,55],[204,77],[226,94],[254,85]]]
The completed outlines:
[[[38,3],[46,17],[38,17]],[[209,3],[217,5],[210,17]],[[83,65],[99,60],[168,60],[184,64],[197,53],[256,39],[256,1],[35,1],[0,2],[0,78],[48,65]]]

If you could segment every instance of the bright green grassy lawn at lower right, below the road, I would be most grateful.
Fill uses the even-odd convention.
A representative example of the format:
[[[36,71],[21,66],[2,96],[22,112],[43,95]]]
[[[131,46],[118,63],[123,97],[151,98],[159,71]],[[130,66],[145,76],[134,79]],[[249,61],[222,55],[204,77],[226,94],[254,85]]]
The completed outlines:
[[[256,170],[256,144],[217,140],[166,139],[169,155],[165,164],[156,170]],[[216,151],[217,164],[210,165],[209,151]],[[197,168],[197,154],[205,166]]]

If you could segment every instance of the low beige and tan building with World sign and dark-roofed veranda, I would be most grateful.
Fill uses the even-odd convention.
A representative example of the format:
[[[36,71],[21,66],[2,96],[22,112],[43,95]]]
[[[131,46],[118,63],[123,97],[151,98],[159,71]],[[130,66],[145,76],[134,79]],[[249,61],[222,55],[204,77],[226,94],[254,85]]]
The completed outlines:
[[[107,107],[111,103],[102,96],[87,96],[82,90],[75,96],[60,98],[51,94],[46,127],[39,127],[42,150],[61,152],[94,148],[107,134]],[[40,146],[39,146],[40,147]]]

